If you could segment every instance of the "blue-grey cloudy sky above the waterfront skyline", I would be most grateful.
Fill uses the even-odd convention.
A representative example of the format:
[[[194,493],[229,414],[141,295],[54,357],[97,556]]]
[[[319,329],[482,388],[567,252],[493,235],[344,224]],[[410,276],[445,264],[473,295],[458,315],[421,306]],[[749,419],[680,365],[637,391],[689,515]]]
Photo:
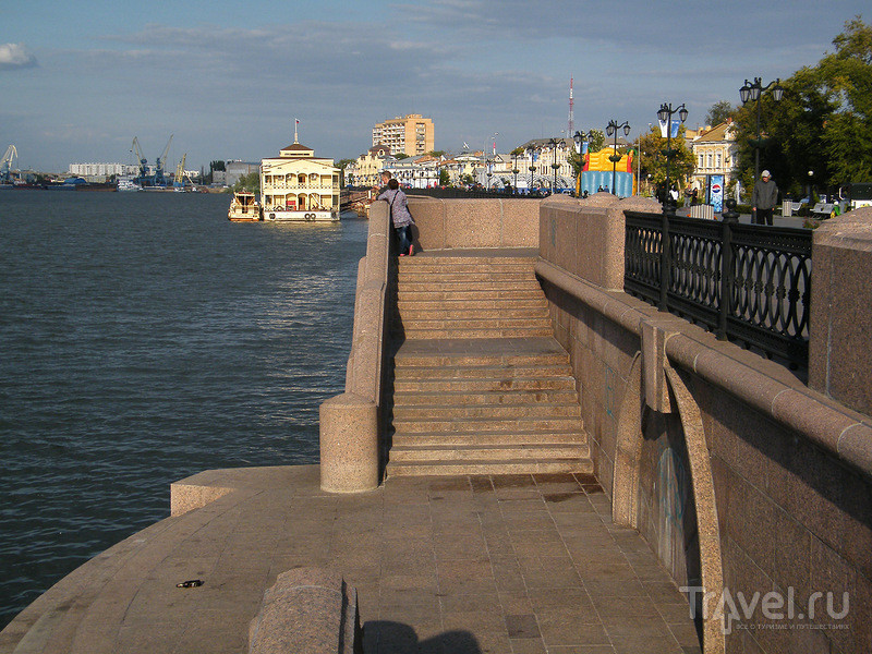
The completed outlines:
[[[718,100],[814,65],[868,0],[27,0],[0,3],[0,156],[22,169],[257,161],[293,141],[355,158],[377,122],[421,113],[437,149],[507,153],[663,102]],[[872,21],[872,15],[863,15]]]

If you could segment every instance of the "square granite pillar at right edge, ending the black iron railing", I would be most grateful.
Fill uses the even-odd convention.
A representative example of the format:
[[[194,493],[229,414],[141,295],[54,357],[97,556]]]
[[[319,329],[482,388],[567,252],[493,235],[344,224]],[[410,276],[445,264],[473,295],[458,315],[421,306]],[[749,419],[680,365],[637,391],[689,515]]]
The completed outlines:
[[[824,221],[812,264],[809,387],[872,414],[872,207]]]

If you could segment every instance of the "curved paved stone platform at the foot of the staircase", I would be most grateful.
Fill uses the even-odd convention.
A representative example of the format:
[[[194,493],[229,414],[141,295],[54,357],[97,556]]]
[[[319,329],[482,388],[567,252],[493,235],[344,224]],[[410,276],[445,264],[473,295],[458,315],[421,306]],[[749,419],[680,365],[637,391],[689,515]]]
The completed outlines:
[[[234,491],[73,572],[0,652],[239,654],[264,590],[300,566],[356,586],[367,654],[700,651],[683,597],[591,475],[391,479],[361,495],[322,493],[316,465],[186,483]],[[205,583],[175,588],[189,579]]]

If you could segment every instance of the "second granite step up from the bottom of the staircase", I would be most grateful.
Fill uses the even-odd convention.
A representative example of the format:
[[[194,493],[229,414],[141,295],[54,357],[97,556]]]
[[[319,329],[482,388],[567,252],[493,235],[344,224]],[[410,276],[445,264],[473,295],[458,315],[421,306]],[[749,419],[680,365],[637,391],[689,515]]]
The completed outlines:
[[[397,445],[390,448],[390,461],[425,462],[425,461],[507,461],[520,459],[571,459],[573,457],[590,456],[586,445],[570,444],[538,444],[525,443],[518,445]]]

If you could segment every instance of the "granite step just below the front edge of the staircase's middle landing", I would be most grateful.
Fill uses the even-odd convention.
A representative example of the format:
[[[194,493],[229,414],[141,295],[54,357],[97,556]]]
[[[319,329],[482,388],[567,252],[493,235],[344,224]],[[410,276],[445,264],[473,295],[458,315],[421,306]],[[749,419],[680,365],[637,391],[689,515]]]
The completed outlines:
[[[473,368],[477,370],[477,368]],[[451,371],[445,371],[450,373]],[[395,376],[393,379],[393,395],[395,396],[414,396],[417,398],[419,393],[424,397],[429,397],[438,392],[462,392],[477,395],[477,393],[496,393],[508,391],[529,391],[532,393],[567,391],[576,392],[576,380],[570,376],[553,376],[553,377],[445,377],[434,378],[433,376],[426,377],[400,377]],[[499,397],[499,396],[497,396]],[[404,402],[408,400],[403,400]]]

